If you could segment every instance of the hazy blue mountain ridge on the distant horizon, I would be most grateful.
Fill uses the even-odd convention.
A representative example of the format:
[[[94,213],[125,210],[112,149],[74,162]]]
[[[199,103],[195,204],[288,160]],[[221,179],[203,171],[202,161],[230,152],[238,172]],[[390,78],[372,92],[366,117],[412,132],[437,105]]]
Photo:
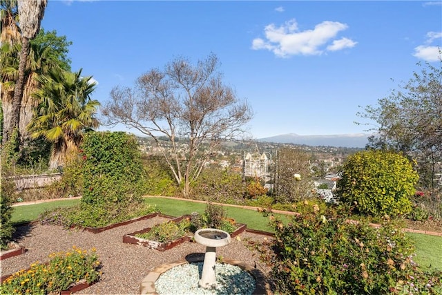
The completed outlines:
[[[305,144],[307,146],[342,146],[364,148],[371,134],[336,134],[336,135],[298,135],[296,133],[276,135],[258,139],[258,142],[276,142],[281,144]]]

